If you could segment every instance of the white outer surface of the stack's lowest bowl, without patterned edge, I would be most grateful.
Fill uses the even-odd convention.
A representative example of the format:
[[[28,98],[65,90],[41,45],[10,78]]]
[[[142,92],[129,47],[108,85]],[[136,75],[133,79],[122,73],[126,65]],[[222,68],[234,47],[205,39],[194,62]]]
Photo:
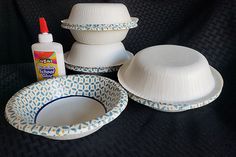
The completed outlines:
[[[106,45],[86,45],[74,42],[65,62],[81,67],[111,67],[122,65],[131,59],[121,42]]]

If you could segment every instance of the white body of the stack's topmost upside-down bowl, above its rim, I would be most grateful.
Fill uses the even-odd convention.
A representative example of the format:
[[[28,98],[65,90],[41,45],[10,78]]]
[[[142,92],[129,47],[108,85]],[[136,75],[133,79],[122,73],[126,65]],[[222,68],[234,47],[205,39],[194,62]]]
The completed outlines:
[[[68,23],[112,24],[130,22],[128,9],[121,3],[78,3],[71,9]]]

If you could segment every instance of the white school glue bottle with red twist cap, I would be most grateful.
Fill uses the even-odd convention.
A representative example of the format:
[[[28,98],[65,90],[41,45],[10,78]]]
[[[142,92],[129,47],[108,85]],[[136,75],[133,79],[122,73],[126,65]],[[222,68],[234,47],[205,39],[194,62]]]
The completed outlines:
[[[53,42],[52,34],[43,17],[39,18],[39,42],[32,45],[35,71],[38,80],[65,75],[65,63],[62,45]]]

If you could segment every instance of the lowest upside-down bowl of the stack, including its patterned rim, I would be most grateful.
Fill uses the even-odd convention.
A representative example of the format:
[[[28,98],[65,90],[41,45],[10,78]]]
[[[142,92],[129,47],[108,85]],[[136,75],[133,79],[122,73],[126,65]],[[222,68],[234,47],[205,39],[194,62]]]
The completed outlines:
[[[67,69],[84,73],[109,73],[132,59],[133,54],[121,42],[106,45],[86,45],[75,42],[64,54]]]

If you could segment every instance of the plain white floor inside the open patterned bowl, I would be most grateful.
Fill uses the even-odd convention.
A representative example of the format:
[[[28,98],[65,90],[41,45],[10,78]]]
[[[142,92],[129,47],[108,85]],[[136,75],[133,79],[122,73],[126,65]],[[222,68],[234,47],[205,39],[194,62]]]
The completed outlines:
[[[35,123],[47,126],[65,126],[83,123],[106,113],[99,101],[84,96],[68,96],[54,100],[42,107]]]

